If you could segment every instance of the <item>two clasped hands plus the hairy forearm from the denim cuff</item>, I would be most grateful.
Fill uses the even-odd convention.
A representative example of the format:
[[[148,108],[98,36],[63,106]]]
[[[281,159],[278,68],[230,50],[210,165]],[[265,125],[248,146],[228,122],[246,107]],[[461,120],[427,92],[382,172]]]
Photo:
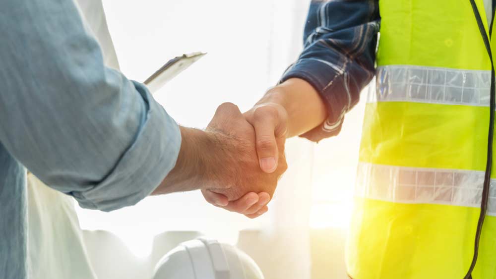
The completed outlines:
[[[231,103],[220,105],[204,131],[181,127],[176,166],[154,194],[201,189],[217,207],[248,218],[264,214],[287,169],[287,119],[276,103],[245,113]]]

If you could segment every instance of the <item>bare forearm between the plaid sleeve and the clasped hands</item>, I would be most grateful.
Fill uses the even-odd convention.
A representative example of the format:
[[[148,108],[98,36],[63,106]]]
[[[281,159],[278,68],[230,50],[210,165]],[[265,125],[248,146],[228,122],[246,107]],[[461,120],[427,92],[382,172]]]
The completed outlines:
[[[274,103],[288,113],[287,137],[304,134],[327,117],[322,98],[307,81],[291,78],[270,89],[257,105]]]

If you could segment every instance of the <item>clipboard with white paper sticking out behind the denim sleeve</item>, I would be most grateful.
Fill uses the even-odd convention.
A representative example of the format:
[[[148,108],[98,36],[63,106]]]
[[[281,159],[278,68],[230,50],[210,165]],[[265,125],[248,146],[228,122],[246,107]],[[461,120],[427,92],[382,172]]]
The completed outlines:
[[[153,73],[143,83],[148,87],[150,92],[154,94],[167,82],[175,78],[179,73],[205,55],[205,53],[192,53],[175,57],[165,63],[164,66]]]

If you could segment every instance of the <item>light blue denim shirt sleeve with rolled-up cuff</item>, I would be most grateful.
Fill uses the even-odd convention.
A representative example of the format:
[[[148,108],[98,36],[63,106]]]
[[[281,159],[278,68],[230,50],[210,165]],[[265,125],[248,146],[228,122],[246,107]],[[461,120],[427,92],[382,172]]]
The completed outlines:
[[[72,0],[0,2],[0,142],[50,187],[111,211],[175,166],[179,126],[104,65]]]

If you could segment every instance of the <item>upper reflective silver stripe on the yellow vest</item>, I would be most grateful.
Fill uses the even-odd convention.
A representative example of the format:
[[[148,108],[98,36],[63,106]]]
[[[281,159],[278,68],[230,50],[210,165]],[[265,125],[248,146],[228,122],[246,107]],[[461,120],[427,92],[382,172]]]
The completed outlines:
[[[415,102],[489,107],[491,71],[380,66],[368,103]]]

